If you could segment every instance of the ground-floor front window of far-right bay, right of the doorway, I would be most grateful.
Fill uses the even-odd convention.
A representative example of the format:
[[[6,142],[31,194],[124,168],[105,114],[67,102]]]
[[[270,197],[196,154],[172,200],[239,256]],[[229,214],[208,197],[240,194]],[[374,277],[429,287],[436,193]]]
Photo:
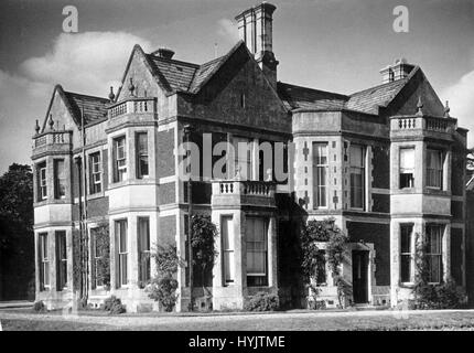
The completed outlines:
[[[427,225],[427,265],[429,282],[439,284],[442,278],[442,225]]]

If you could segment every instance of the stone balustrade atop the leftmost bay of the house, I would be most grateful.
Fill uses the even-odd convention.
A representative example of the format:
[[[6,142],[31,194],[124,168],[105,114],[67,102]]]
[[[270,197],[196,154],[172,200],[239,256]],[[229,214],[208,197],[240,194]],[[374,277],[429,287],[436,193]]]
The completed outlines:
[[[72,148],[73,131],[51,130],[33,137],[33,159],[47,153],[68,153]]]

